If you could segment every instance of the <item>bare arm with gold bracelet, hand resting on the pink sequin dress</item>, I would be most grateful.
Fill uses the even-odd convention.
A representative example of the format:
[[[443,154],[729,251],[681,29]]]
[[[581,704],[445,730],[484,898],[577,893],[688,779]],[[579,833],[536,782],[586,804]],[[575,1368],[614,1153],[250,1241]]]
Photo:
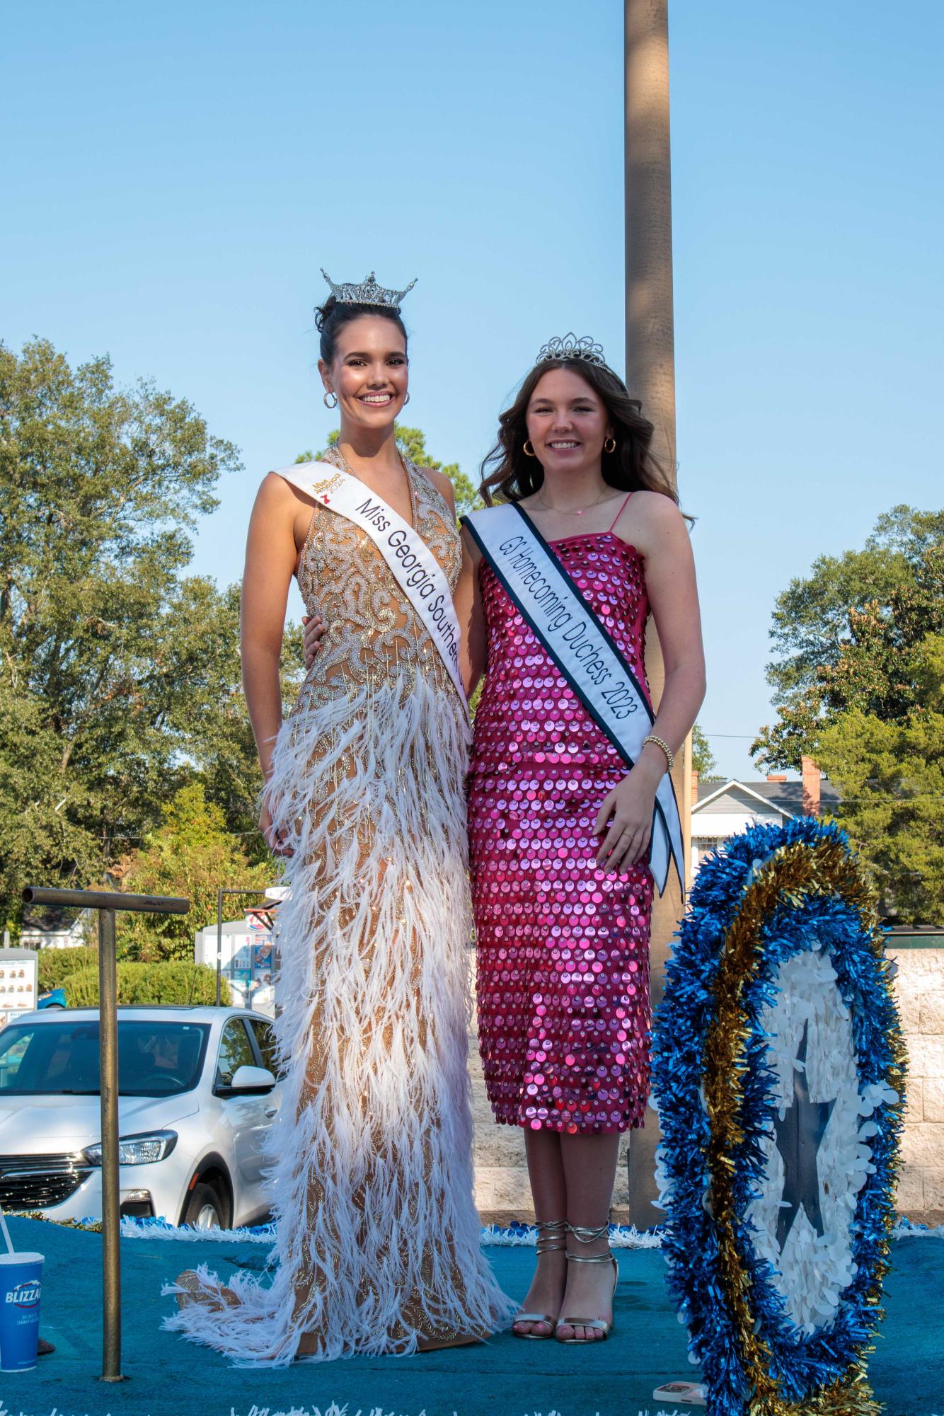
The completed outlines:
[[[682,514],[668,497],[637,491],[633,503],[633,537],[645,559],[645,590],[665,667],[665,685],[650,731],[675,753],[705,697],[695,561]],[[594,827],[601,837],[599,865],[624,869],[643,858],[650,844],[655,789],[665,767],[662,749],[647,742],[633,770],[606,796]]]

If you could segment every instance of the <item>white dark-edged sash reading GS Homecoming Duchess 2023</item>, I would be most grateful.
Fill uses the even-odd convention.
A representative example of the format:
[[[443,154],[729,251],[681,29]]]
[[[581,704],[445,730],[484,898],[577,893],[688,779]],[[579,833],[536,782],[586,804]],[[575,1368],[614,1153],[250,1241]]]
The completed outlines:
[[[589,715],[633,766],[652,728],[652,709],[620,649],[548,542],[514,503],[473,511],[463,523]],[[650,848],[660,895],[669,860],[684,893],[682,824],[672,779],[665,772],[655,790]]]

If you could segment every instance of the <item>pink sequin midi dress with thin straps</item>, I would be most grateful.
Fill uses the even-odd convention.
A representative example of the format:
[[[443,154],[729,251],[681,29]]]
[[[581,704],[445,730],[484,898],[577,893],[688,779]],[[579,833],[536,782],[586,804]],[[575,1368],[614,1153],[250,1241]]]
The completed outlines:
[[[644,684],[640,554],[611,531],[551,548]],[[481,590],[468,823],[488,1100],[508,1126],[623,1131],[650,1090],[652,877],[597,869],[593,823],[628,769],[484,561]]]

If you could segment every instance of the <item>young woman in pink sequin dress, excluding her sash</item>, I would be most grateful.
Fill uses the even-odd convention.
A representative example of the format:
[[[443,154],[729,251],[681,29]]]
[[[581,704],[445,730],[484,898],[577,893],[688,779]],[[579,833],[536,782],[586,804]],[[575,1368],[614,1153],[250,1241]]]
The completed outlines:
[[[665,688],[651,731],[678,752],[703,657],[689,537],[651,436],[604,364],[543,360],[501,415],[483,491],[526,511],[640,684],[652,615]],[[480,1046],[495,1119],[525,1131],[541,1223],[514,1331],[600,1341],[620,1133],[643,1124],[650,1086],[647,851],[667,755],[650,742],[627,769],[466,539],[470,687],[487,668],[468,786]]]

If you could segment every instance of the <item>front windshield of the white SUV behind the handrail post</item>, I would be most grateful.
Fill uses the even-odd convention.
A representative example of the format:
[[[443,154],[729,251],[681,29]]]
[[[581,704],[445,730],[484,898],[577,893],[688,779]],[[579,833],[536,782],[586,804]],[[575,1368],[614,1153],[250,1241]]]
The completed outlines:
[[[122,1096],[177,1096],[200,1080],[209,1027],[117,1024]],[[13,1022],[0,1032],[0,1097],[98,1096],[98,1021]]]

